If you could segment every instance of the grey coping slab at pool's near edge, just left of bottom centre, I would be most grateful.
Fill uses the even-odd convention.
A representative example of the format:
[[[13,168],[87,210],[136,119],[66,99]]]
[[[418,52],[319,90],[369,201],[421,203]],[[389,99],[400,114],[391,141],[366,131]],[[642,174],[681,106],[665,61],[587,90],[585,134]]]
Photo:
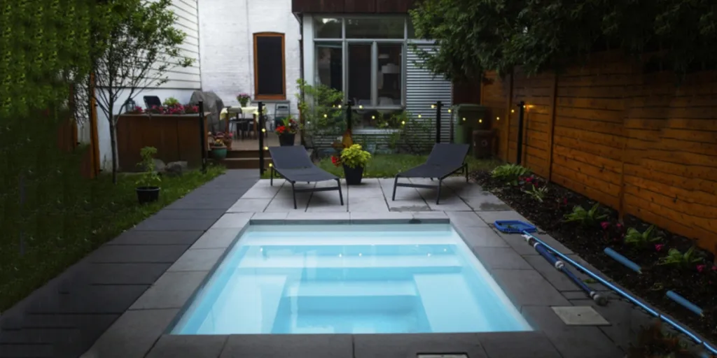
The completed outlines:
[[[221,358],[353,358],[349,334],[237,334],[229,336]]]

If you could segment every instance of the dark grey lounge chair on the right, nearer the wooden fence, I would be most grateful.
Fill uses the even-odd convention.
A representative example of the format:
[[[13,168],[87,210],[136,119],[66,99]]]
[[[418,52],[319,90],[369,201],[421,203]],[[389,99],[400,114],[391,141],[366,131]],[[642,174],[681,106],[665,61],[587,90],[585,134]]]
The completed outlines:
[[[437,143],[433,146],[431,154],[428,155],[426,163],[396,175],[394,179],[394,195],[391,200],[396,200],[396,188],[399,186],[407,188],[437,188],[437,205],[441,198],[441,184],[445,178],[461,172],[465,175],[465,181],[468,181],[468,165],[464,161],[469,149],[470,147],[467,144]],[[399,183],[399,178],[429,178],[430,180],[437,178],[438,185]]]

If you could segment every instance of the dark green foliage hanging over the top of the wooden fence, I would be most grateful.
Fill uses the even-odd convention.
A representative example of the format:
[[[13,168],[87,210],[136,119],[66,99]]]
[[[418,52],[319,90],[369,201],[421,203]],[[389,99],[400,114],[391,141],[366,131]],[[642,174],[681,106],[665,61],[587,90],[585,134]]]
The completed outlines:
[[[417,37],[439,45],[420,54],[424,66],[448,79],[535,74],[606,49],[680,75],[717,64],[712,0],[422,0],[410,15]]]

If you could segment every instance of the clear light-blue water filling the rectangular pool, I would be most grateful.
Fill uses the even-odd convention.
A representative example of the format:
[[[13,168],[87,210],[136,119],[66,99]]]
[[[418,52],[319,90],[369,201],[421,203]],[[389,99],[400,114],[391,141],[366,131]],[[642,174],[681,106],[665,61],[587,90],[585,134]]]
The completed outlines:
[[[250,226],[172,334],[527,331],[449,224]]]

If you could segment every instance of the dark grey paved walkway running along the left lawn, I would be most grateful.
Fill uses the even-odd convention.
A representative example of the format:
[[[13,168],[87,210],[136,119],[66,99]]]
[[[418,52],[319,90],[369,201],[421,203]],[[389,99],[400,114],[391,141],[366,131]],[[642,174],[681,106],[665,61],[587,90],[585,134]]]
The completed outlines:
[[[0,357],[79,357],[258,179],[228,170],[3,312]]]

